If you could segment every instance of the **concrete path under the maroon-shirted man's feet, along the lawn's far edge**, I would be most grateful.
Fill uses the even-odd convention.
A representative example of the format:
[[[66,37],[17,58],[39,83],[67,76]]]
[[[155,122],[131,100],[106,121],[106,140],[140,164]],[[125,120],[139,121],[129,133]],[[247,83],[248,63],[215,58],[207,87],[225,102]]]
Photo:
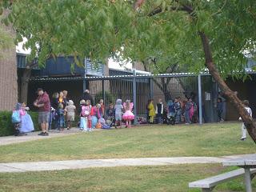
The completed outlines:
[[[95,130],[98,131],[99,129],[95,129]],[[0,146],[10,145],[18,142],[30,142],[38,139],[57,138],[65,135],[81,133],[81,131],[78,128],[72,128],[70,130],[65,129],[64,131],[49,130],[49,136],[39,136],[38,135],[39,133],[40,131],[31,132],[24,136],[12,135],[12,136],[0,137]]]

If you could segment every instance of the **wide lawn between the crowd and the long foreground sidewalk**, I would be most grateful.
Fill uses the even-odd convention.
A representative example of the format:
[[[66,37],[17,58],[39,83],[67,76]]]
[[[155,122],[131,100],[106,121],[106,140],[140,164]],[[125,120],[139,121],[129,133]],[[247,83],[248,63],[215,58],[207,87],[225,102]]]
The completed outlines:
[[[256,153],[254,142],[240,138],[240,123],[204,126],[138,126],[78,133],[0,146],[0,162],[87,158],[221,156]]]

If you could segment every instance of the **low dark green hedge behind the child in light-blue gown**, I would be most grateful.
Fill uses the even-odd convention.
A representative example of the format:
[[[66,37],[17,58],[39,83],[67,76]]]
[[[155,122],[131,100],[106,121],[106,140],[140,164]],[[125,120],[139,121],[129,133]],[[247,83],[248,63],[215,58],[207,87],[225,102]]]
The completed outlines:
[[[0,136],[8,136],[14,134],[14,126],[11,122],[11,111],[0,111]],[[40,130],[38,125],[38,112],[30,111],[30,117],[34,122],[34,130]]]

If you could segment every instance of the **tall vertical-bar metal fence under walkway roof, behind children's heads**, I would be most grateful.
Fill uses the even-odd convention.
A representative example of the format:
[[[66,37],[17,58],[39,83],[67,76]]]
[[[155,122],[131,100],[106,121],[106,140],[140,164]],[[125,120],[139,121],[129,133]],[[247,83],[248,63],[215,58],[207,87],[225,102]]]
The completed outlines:
[[[209,78],[209,76],[207,76]],[[201,78],[200,78],[201,79]],[[130,99],[134,102],[134,113],[137,117],[146,117],[146,106],[150,99],[154,104],[162,99],[166,106],[169,99],[185,98],[192,92],[198,99],[198,76],[172,75],[120,75],[109,77],[86,78],[86,87],[95,102],[103,99],[106,106],[121,98],[122,102]]]

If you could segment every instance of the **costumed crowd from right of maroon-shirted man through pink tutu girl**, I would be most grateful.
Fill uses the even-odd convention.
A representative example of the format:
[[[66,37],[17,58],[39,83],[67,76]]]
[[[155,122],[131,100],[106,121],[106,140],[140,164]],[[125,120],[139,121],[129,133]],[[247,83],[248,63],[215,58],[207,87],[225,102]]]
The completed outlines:
[[[67,91],[54,93],[51,102],[50,127],[52,129],[69,130],[72,122],[75,120],[75,114],[78,112],[80,122],[78,127],[82,131],[91,131],[94,128],[110,129],[115,126],[121,127],[122,121],[126,122],[126,127],[130,127],[134,120],[134,114],[131,112],[133,103],[130,100],[122,103],[122,99],[117,99],[115,105],[110,103],[106,108],[103,99],[100,99],[95,106],[91,105],[90,99],[82,99],[78,110],[72,100],[67,99]]]

